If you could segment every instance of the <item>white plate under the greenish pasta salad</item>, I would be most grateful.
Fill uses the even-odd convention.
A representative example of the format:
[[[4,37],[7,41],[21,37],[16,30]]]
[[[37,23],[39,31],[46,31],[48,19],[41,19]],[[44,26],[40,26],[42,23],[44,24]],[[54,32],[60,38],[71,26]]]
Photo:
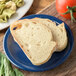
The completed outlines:
[[[33,3],[33,0],[24,0],[24,2],[24,6],[18,8],[16,13],[10,19],[8,19],[7,23],[0,23],[0,30],[7,28],[8,26],[10,26],[11,23],[20,19],[27,13]]]

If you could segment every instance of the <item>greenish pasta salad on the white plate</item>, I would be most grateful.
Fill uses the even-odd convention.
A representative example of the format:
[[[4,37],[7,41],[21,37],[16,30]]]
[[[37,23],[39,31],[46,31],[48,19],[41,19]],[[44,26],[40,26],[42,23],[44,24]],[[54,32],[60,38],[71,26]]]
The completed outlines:
[[[0,0],[0,23],[7,22],[16,13],[17,8],[23,5],[23,0]]]

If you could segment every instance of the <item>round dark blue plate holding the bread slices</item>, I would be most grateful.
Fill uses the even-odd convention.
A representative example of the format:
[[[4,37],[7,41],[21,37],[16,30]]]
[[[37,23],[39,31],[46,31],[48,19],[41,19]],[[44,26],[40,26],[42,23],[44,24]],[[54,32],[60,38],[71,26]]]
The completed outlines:
[[[50,20],[56,22],[57,25],[63,22],[53,16],[43,15],[43,14],[30,15],[30,16],[26,16],[22,19],[31,19],[34,17],[50,19]],[[10,33],[10,29],[7,30],[5,37],[4,37],[4,42],[3,42],[5,54],[6,54],[7,58],[14,65],[16,65],[17,67],[19,67],[23,70],[36,72],[36,71],[46,71],[46,70],[53,69],[53,68],[59,66],[60,64],[62,64],[67,59],[67,57],[70,55],[72,48],[73,48],[74,40],[73,40],[72,32],[71,32],[70,28],[67,26],[67,24],[65,24],[65,28],[66,28],[67,35],[68,35],[67,47],[62,52],[58,52],[58,53],[55,52],[52,55],[51,59],[43,65],[35,66],[30,62],[30,60],[26,57],[26,55],[21,50],[19,45],[13,40],[13,37]]]

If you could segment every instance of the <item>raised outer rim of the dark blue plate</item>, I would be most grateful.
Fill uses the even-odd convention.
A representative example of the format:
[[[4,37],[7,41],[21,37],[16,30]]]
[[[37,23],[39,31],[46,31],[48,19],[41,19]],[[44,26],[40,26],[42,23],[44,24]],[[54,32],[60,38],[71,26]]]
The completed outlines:
[[[62,21],[62,20],[60,20],[60,19],[58,19],[58,18],[56,18],[56,17],[54,17],[54,16],[50,16],[50,15],[45,15],[45,14],[33,14],[33,15],[29,15],[29,16],[26,16],[26,17],[23,17],[23,18],[21,18],[21,19],[26,19],[26,18],[28,18],[28,17],[41,17],[41,16],[48,16],[49,18],[50,17],[53,17],[53,18],[55,18],[55,19],[57,19],[57,22],[58,21],[60,21],[60,23],[62,23],[62,22],[64,22],[64,21]],[[48,18],[47,17],[47,18]],[[65,23],[65,22],[64,22]],[[6,36],[8,36],[7,35],[7,33],[10,33],[10,32],[8,32],[8,31],[10,31],[10,28],[8,28],[8,30],[6,31],[6,33],[5,33],[5,36],[4,36],[4,39],[3,39],[3,49],[4,49],[4,52],[5,52],[5,54],[6,54],[6,56],[7,56],[7,58],[10,60],[10,62],[12,62],[15,66],[17,66],[18,68],[20,68],[20,69],[23,69],[23,70],[27,70],[27,71],[32,71],[32,72],[40,72],[40,71],[47,71],[47,70],[50,70],[50,69],[53,69],[53,68],[55,68],[55,67],[58,67],[60,64],[62,64],[68,57],[69,57],[69,55],[70,55],[70,53],[71,53],[71,51],[72,51],[72,49],[73,49],[73,46],[74,46],[74,37],[73,37],[73,34],[72,34],[72,31],[71,31],[71,29],[69,28],[69,26],[65,23],[65,25],[66,25],[66,28],[68,28],[68,31],[69,31],[69,33],[70,33],[70,36],[71,36],[71,40],[72,40],[72,46],[71,46],[71,48],[68,50],[68,53],[62,58],[62,59],[60,59],[60,63],[57,63],[55,66],[53,66],[53,67],[51,67],[51,68],[49,68],[49,69],[44,69],[44,70],[30,70],[30,69],[27,69],[27,68],[22,68],[22,67],[20,67],[20,65],[16,65],[14,62],[12,62],[11,60],[10,60],[10,58],[9,58],[9,56],[7,55],[7,53],[6,53],[6,48],[5,48],[5,40],[6,40]]]

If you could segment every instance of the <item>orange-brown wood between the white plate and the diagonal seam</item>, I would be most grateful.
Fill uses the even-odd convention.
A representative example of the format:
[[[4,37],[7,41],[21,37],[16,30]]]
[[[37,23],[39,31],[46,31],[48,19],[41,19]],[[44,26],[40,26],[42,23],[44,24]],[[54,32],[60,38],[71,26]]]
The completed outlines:
[[[41,11],[43,8],[50,5],[53,1],[55,0],[34,0],[32,7],[30,8],[30,10],[27,12],[26,15],[36,14],[37,12]]]

